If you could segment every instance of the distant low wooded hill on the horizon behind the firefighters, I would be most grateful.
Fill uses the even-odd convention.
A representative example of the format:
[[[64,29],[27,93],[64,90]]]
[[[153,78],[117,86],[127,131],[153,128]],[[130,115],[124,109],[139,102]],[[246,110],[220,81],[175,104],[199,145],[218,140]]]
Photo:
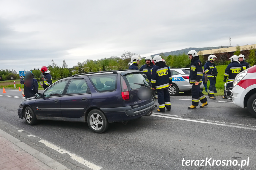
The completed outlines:
[[[190,47],[190,48],[184,48],[182,50],[176,50],[176,51],[171,51],[171,52],[162,52],[162,53],[159,53],[159,54],[154,54],[154,55],[151,55],[151,57],[154,57],[155,55],[164,55],[164,56],[169,56],[169,55],[179,55],[179,54],[187,54],[188,51],[190,50],[195,50],[196,52],[198,51],[202,51],[202,50],[210,50],[210,49],[217,49],[217,48],[226,48],[226,47],[229,47],[229,46],[219,46],[219,47],[202,47],[202,48],[193,48],[193,47]]]

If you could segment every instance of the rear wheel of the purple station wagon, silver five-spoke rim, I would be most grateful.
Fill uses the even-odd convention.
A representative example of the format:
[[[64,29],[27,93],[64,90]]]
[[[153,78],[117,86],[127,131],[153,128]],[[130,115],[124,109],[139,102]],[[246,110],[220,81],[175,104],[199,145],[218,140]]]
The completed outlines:
[[[98,109],[93,109],[89,112],[87,116],[87,123],[90,129],[95,133],[103,133],[109,126],[109,122],[105,114]]]

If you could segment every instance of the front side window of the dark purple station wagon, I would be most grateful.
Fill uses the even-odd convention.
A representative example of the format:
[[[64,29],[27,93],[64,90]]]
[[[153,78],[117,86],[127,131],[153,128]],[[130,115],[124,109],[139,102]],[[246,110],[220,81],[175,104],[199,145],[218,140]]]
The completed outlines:
[[[61,81],[53,84],[51,87],[47,88],[47,90],[44,92],[44,96],[53,97],[53,96],[62,95],[67,82],[68,80],[65,80],[65,81]]]

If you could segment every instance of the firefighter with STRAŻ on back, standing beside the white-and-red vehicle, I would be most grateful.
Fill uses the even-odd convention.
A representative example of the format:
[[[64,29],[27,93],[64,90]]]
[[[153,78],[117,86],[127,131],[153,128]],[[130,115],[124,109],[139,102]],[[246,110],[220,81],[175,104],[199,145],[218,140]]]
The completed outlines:
[[[238,75],[241,71],[244,70],[243,66],[238,61],[238,56],[234,55],[229,59],[230,59],[230,64],[228,64],[228,67],[225,69],[223,82],[226,82],[227,79],[228,79],[228,82],[234,81],[236,75]],[[232,87],[233,87],[233,83],[229,83],[226,86],[227,90]],[[225,93],[222,98],[227,99],[227,96]]]

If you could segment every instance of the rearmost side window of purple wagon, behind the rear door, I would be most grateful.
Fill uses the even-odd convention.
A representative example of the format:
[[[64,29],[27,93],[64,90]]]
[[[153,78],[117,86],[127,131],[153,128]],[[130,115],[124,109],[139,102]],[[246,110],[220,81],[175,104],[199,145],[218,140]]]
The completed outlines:
[[[94,75],[89,77],[98,92],[115,91],[117,75]]]

